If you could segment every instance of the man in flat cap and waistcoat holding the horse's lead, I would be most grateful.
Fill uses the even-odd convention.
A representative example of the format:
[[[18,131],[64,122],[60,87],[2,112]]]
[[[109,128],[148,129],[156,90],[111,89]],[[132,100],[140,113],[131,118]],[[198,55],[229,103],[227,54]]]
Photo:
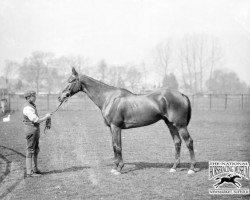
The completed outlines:
[[[51,117],[48,113],[44,117],[39,117],[36,109],[36,92],[29,90],[25,92],[26,103],[23,107],[24,132],[27,140],[26,152],[26,173],[27,177],[40,176],[41,171],[37,167],[37,157],[39,153],[40,123]],[[32,169],[33,162],[33,169]]]

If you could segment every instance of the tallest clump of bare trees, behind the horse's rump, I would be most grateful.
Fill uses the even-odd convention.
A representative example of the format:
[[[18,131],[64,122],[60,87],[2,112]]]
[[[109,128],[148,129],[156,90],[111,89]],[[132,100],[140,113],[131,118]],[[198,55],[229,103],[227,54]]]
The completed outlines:
[[[184,87],[189,92],[203,92],[205,80],[222,59],[218,40],[205,34],[187,35],[182,39],[179,60]]]

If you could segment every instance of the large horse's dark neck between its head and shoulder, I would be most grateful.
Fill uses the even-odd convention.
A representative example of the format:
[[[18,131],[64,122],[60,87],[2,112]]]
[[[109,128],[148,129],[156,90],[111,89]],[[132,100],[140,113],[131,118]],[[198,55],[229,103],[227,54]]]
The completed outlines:
[[[102,109],[107,94],[114,90],[114,87],[106,85],[100,81],[93,78],[83,76],[82,83],[84,84],[85,92],[88,97],[100,108]]]

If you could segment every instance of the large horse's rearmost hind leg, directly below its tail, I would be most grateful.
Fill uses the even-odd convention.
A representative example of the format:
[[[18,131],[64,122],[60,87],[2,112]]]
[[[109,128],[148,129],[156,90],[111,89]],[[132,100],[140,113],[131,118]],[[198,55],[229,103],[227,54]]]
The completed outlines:
[[[187,127],[181,127],[181,128],[179,128],[178,131],[179,131],[181,137],[183,138],[183,140],[185,141],[187,148],[189,150],[189,153],[190,153],[191,165],[190,165],[190,169],[188,171],[188,174],[192,174],[195,172],[194,167],[195,167],[195,163],[196,163],[195,155],[194,155],[193,139],[189,135]]]

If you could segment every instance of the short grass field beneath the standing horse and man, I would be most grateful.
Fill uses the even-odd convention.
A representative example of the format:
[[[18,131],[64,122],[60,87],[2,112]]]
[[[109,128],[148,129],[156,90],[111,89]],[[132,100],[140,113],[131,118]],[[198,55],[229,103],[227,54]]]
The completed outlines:
[[[44,114],[40,112],[40,115]],[[250,161],[250,112],[193,111],[189,126],[197,173],[187,175],[189,152],[182,143],[181,166],[169,173],[174,145],[163,122],[124,130],[123,174],[110,173],[113,151],[99,111],[59,111],[52,129],[41,127],[39,167],[44,175],[24,178],[22,114],[0,122],[0,199],[249,199],[209,195],[208,161]],[[250,188],[242,180],[242,187]]]

